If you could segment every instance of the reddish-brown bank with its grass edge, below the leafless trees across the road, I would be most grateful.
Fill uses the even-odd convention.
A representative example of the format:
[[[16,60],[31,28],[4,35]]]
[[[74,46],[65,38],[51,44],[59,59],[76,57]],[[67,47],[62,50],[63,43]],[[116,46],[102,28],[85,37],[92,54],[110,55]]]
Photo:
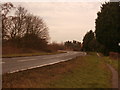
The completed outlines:
[[[59,53],[66,53],[63,51],[59,52],[43,52],[33,49],[27,48],[17,48],[13,46],[5,46],[2,48],[2,57],[3,58],[11,58],[11,57],[24,57],[24,56],[38,56],[38,55],[52,55],[52,54],[59,54]]]

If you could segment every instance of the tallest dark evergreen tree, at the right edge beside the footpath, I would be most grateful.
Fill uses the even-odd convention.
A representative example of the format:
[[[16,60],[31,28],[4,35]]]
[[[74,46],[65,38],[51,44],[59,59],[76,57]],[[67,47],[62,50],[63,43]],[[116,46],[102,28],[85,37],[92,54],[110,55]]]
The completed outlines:
[[[101,11],[97,13],[96,39],[105,46],[105,53],[109,51],[120,52],[120,5],[119,2],[102,4]]]

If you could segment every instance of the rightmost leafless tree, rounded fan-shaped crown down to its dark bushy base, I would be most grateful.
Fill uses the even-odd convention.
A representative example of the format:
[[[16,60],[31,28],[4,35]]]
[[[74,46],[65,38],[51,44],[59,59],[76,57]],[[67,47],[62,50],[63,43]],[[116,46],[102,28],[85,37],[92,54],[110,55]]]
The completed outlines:
[[[26,16],[25,33],[23,43],[25,46],[43,49],[49,39],[48,27],[43,20],[32,14]],[[32,45],[32,46],[30,46]]]

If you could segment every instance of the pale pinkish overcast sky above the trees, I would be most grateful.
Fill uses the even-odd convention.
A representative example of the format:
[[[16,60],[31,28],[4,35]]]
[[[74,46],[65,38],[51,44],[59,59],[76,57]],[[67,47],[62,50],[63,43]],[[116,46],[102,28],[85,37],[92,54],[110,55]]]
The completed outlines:
[[[30,13],[40,16],[49,27],[50,41],[82,41],[89,30],[95,30],[95,19],[101,2],[22,2]]]

